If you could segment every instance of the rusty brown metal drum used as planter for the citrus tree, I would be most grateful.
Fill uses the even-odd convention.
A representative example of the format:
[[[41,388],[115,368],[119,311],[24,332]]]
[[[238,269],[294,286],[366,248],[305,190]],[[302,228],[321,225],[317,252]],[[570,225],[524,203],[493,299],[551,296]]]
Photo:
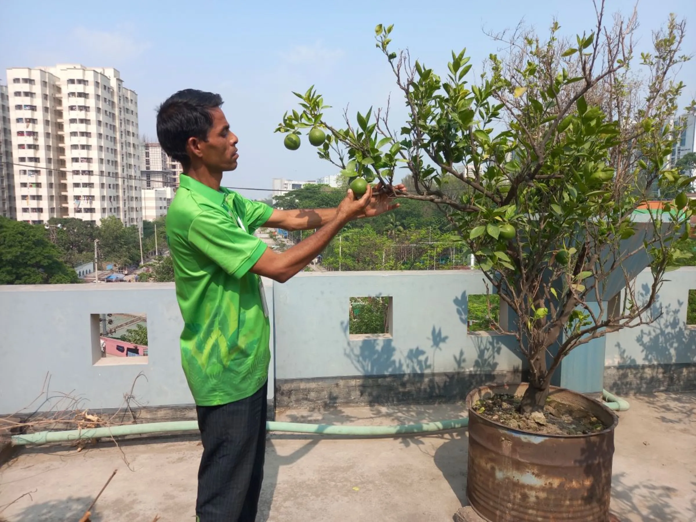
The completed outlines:
[[[471,506],[490,522],[608,522],[618,417],[599,402],[553,387],[554,400],[581,406],[609,427],[587,435],[532,434],[471,408],[498,393],[523,395],[526,386],[477,388],[466,397]]]

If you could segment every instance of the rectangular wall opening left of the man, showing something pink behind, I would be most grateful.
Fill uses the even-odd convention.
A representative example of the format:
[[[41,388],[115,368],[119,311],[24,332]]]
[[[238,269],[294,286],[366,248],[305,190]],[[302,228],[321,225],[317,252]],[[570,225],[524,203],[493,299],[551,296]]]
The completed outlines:
[[[92,364],[148,363],[148,317],[145,313],[90,315]]]

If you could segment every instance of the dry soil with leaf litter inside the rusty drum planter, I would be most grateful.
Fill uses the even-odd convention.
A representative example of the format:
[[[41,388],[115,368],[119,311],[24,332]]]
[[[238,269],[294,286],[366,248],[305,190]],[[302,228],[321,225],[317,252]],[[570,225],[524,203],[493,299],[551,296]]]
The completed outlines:
[[[601,420],[576,406],[569,406],[551,398],[546,400],[544,412],[520,413],[522,397],[493,395],[477,400],[473,408],[477,413],[500,422],[512,429],[548,435],[582,435],[601,432],[606,426]]]

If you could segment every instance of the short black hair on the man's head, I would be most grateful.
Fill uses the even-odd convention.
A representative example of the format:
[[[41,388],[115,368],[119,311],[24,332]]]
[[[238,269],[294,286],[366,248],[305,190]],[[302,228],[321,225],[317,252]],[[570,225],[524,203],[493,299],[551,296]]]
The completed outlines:
[[[157,109],[157,139],[168,155],[179,161],[184,169],[191,167],[186,152],[189,138],[207,141],[213,126],[210,111],[222,105],[219,94],[198,89],[180,90],[168,97]]]

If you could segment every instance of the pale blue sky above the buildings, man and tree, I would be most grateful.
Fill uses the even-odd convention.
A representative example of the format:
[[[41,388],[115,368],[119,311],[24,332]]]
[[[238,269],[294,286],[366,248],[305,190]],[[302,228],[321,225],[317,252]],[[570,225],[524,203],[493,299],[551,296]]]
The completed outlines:
[[[628,13],[633,2],[610,0],[610,11]],[[670,12],[686,17],[684,51],[696,53],[696,2],[644,0],[638,6],[640,47]],[[521,19],[545,30],[557,17],[562,33],[592,31],[589,0],[560,1],[118,1],[116,3],[3,2],[0,17],[0,78],[8,67],[82,63],[118,68],[139,95],[141,134],[155,136],[155,107],[182,88],[220,93],[239,136],[239,168],[223,184],[271,188],[272,177],[312,180],[335,173],[304,141],[283,148],[274,128],[296,98],[316,84],[335,109],[351,112],[381,106],[397,96],[383,56],[374,47],[374,26],[395,24],[393,45],[409,47],[436,71],[450,49],[468,49],[474,69],[496,52],[482,28],[500,31]],[[446,70],[446,69],[445,69]],[[696,97],[696,61],[680,77]],[[397,99],[398,102],[400,100]],[[400,108],[395,116],[403,113]],[[268,193],[246,192],[255,198]]]

